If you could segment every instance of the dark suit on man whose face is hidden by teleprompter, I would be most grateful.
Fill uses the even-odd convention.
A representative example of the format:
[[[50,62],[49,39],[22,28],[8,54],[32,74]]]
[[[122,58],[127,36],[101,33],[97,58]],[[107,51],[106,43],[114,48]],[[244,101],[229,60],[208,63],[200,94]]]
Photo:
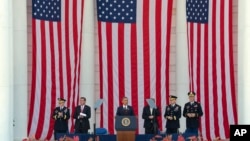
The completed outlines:
[[[154,118],[149,119],[149,116],[154,116]],[[150,106],[145,106],[143,108],[143,112],[142,112],[142,118],[144,119],[143,127],[144,128],[151,128],[152,123],[156,123],[156,125],[159,126],[158,125],[158,120],[157,120],[158,116],[160,116],[159,108],[153,109],[152,114],[151,114]]]

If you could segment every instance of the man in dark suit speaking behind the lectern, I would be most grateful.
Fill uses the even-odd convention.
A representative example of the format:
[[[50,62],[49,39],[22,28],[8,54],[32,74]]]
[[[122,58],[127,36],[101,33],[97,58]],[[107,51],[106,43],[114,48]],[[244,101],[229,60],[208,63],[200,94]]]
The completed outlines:
[[[134,110],[132,106],[128,105],[128,98],[122,98],[122,106],[119,106],[116,110],[116,116],[134,116]]]

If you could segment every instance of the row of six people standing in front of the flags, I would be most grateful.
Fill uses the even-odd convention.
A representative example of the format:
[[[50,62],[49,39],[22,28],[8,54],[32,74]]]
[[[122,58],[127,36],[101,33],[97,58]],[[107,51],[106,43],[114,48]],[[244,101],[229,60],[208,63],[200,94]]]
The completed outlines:
[[[166,119],[166,133],[174,134],[178,133],[180,128],[181,115],[186,118],[186,131],[190,133],[198,134],[199,118],[203,115],[200,103],[195,101],[195,93],[189,92],[189,102],[184,106],[183,113],[181,112],[181,106],[176,103],[177,97],[171,95],[169,97],[169,105],[166,106],[164,118]],[[154,100],[154,99],[153,99]],[[70,118],[70,110],[64,105],[65,99],[59,98],[59,106],[53,111],[54,124],[54,137],[57,133],[68,132],[68,119]],[[123,105],[117,108],[116,115],[131,115],[134,116],[133,107],[128,105],[128,98],[123,97]],[[149,105],[143,108],[142,118],[144,119],[145,134],[156,134],[158,132],[158,120],[160,110],[157,108],[150,108]],[[86,105],[86,98],[80,98],[80,105],[75,108],[73,115],[75,119],[75,133],[88,133],[90,129],[89,118],[91,117],[91,108]]]

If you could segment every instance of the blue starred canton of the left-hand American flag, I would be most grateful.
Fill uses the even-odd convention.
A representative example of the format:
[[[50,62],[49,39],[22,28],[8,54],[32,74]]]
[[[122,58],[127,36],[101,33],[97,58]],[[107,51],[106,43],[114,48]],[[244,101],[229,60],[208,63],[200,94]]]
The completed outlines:
[[[60,21],[61,0],[32,0],[32,12],[35,19]]]

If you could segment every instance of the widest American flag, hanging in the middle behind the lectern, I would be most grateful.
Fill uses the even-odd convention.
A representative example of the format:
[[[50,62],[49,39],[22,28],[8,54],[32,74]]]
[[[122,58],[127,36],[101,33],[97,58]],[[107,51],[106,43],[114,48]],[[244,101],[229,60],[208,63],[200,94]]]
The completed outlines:
[[[97,0],[101,126],[115,133],[116,109],[129,99],[144,133],[142,110],[156,99],[164,112],[169,95],[173,0]],[[165,120],[159,118],[160,128]]]

